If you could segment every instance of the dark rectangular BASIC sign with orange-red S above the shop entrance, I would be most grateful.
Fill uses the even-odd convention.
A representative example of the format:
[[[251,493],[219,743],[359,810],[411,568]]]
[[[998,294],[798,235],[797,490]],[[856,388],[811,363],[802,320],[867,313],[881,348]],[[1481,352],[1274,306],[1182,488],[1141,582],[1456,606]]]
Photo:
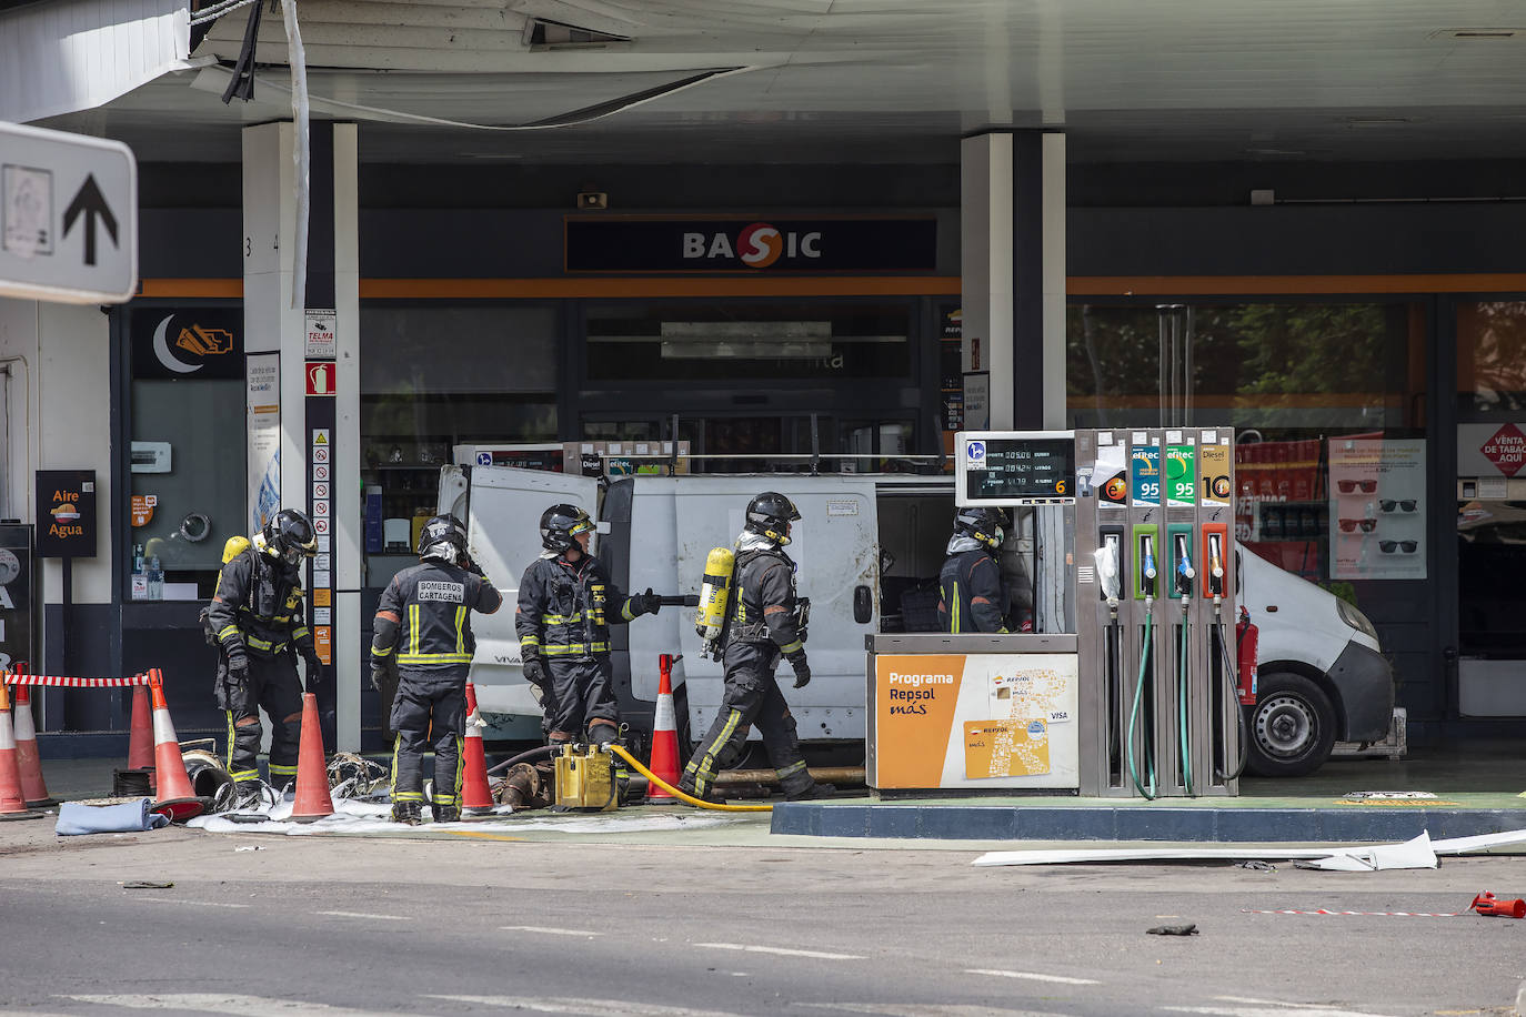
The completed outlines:
[[[934,271],[932,217],[568,217],[568,271]]]

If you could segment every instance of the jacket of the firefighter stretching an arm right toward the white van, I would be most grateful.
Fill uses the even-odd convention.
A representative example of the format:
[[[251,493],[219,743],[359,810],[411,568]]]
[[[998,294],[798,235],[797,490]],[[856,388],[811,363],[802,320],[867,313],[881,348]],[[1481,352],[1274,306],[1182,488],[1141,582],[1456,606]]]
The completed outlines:
[[[536,558],[519,579],[519,654],[548,663],[607,654],[609,627],[642,613],[633,601],[594,555]]]

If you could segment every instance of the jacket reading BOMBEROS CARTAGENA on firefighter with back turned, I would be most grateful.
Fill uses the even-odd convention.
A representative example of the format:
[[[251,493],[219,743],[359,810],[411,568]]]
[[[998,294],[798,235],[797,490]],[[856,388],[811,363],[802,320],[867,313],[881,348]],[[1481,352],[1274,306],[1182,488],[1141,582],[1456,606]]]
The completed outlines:
[[[497,587],[459,566],[424,561],[403,569],[377,602],[371,662],[386,665],[391,659],[401,671],[453,668],[464,674],[476,650],[472,611],[491,614],[502,602]]]

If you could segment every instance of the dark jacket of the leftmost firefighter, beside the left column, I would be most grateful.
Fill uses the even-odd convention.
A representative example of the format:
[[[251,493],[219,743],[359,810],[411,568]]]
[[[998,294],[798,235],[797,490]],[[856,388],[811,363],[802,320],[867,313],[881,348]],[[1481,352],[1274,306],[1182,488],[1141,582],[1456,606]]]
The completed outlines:
[[[275,657],[293,646],[316,656],[301,573],[253,547],[223,566],[208,622],[230,657]]]

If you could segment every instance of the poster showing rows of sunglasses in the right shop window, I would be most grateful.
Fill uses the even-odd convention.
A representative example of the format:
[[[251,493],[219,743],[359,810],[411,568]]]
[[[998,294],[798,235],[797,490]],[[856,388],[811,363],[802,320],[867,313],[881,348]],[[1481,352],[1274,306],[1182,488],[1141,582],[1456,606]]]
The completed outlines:
[[[1331,578],[1425,578],[1425,441],[1329,439]]]

